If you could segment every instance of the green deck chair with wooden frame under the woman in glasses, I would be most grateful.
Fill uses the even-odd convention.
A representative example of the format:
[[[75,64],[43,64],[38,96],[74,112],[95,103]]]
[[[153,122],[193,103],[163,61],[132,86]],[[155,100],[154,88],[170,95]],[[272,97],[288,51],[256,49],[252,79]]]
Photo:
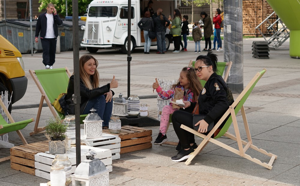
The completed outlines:
[[[277,159],[277,156],[272,154],[272,153],[268,153],[263,149],[258,149],[256,146],[254,146],[252,144],[252,139],[251,139],[251,135],[250,135],[250,131],[249,131],[249,126],[248,126],[248,122],[247,122],[247,118],[246,118],[246,113],[245,113],[245,109],[244,109],[244,103],[247,100],[248,96],[250,95],[251,91],[253,90],[254,86],[256,85],[256,83],[258,82],[258,80],[262,77],[262,75],[266,72],[266,69],[263,69],[261,72],[258,72],[253,79],[249,82],[249,84],[246,86],[246,88],[241,92],[241,94],[238,96],[238,98],[235,99],[235,101],[233,102],[233,104],[231,106],[229,106],[229,109],[226,111],[226,113],[222,116],[222,118],[220,119],[220,121],[214,126],[214,128],[208,133],[208,135],[204,135],[202,133],[199,133],[185,125],[181,125],[181,128],[183,128],[186,131],[189,131],[201,138],[203,138],[202,142],[200,143],[200,145],[198,146],[197,149],[195,149],[195,151],[193,152],[193,154],[190,156],[190,158],[187,159],[187,161],[185,162],[186,165],[189,165],[190,162],[193,160],[193,158],[199,154],[202,149],[208,144],[208,142],[212,142],[224,149],[227,149],[237,155],[240,155],[241,157],[244,157],[250,161],[253,161],[256,164],[259,164],[263,167],[266,167],[267,169],[272,169],[272,164],[274,162],[275,159]],[[236,120],[236,114],[238,113],[238,111],[241,110],[241,115],[243,117],[243,122],[244,122],[244,128],[247,134],[247,141],[241,140],[241,136],[240,136],[240,132],[238,129],[238,123]],[[225,125],[223,126],[223,128],[221,130],[219,130],[219,126],[223,123],[223,121],[227,118],[227,116],[229,116],[229,119],[226,121]],[[233,134],[230,134],[229,132],[226,132],[228,130],[228,128],[230,127],[231,123],[233,123],[234,126],[234,131],[235,131],[235,136]],[[214,137],[211,138],[211,136],[214,133],[217,133],[219,131],[219,133]],[[231,146],[228,146],[224,143],[221,143],[220,141],[216,140],[217,138],[221,137],[221,136],[226,136],[234,141],[236,141],[238,143],[238,149],[234,149]],[[243,146],[244,145],[244,146]],[[256,158],[252,158],[250,155],[246,154],[247,149],[254,149],[264,155],[267,155],[270,158],[269,163],[262,163],[260,160],[256,159]]]

